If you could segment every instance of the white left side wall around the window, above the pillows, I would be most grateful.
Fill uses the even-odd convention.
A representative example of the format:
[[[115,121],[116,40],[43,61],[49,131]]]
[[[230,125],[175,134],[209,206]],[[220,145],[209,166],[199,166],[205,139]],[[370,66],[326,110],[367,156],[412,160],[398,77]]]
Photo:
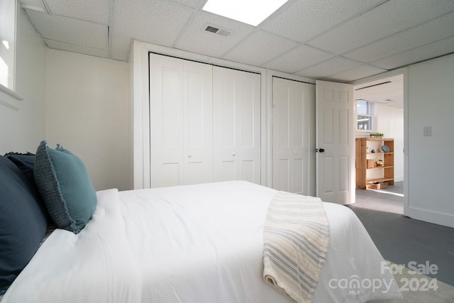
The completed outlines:
[[[16,94],[18,101],[0,91],[0,154],[35,153],[45,138],[46,48],[26,16],[19,11],[16,31]]]

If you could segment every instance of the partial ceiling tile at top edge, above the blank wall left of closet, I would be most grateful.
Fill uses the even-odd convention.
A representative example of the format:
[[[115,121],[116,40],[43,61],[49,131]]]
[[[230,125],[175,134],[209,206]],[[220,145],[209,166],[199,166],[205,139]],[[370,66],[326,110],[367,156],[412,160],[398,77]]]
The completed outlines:
[[[53,15],[109,24],[109,0],[45,0]]]

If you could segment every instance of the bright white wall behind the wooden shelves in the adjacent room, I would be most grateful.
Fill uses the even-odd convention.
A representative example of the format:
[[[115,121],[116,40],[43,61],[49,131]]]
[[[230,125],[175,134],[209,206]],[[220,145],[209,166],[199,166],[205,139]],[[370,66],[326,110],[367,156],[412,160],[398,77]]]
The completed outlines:
[[[404,109],[377,104],[377,131],[394,138],[394,181],[404,180]]]

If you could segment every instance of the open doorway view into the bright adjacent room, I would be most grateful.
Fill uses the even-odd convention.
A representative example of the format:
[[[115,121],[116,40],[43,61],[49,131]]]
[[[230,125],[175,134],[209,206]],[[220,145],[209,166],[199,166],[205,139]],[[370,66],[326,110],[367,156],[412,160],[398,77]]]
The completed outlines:
[[[355,206],[404,214],[404,75],[357,84],[353,94],[357,102],[355,137],[381,133],[394,139],[394,182],[383,182],[380,189],[356,189]],[[375,160],[377,156],[368,151],[369,158]],[[380,170],[367,169],[366,174],[372,180]]]

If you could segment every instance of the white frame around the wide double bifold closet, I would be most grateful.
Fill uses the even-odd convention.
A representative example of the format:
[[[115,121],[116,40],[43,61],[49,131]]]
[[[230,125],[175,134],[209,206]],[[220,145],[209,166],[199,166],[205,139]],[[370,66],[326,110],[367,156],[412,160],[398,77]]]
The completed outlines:
[[[130,127],[130,162],[133,167],[131,172],[131,187],[133,189],[150,188],[150,78],[148,76],[149,53],[179,57],[184,60],[194,60],[206,64],[218,65],[221,67],[243,70],[246,72],[255,72],[262,75],[260,80],[260,118],[261,118],[261,140],[264,144],[261,146],[261,182],[262,185],[269,186],[270,182],[270,162],[269,155],[269,133],[267,119],[269,111],[267,105],[270,104],[267,92],[267,75],[268,72],[262,67],[245,65],[243,63],[218,59],[206,55],[167,48],[162,45],[146,43],[143,41],[133,40],[131,53],[129,55],[129,117]]]

